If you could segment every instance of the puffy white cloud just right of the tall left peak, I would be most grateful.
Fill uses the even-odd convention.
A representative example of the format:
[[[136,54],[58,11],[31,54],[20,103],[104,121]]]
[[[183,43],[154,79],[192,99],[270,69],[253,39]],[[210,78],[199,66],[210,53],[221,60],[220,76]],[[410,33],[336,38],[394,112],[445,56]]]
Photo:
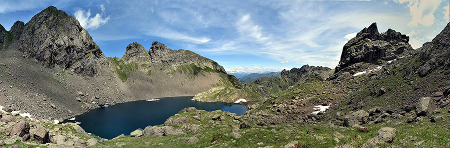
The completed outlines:
[[[96,29],[100,25],[107,23],[109,20],[109,16],[106,18],[102,17],[104,14],[104,5],[100,4],[98,5],[98,8],[100,8],[101,14],[97,13],[94,17],[90,17],[90,9],[86,12],[81,8],[79,8],[73,15],[75,15],[75,18],[78,19],[79,24],[85,29]]]

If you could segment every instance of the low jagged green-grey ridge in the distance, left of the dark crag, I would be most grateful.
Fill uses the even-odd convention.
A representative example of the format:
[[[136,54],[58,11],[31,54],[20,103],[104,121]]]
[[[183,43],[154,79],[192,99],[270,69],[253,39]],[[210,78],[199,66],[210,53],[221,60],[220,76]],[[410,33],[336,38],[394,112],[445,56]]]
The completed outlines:
[[[285,90],[300,81],[306,81],[314,77],[326,79],[331,74],[330,70],[328,67],[309,66],[306,64],[300,68],[284,69],[277,77],[259,77],[253,82],[246,83],[245,87],[254,89],[262,95],[270,95]]]

